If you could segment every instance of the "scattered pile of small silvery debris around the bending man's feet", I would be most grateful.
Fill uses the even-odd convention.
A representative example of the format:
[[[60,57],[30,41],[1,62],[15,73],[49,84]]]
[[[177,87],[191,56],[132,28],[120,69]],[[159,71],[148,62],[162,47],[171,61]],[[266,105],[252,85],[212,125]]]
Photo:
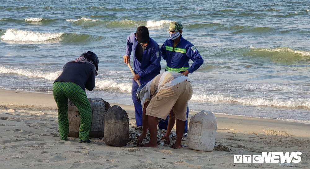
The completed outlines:
[[[143,133],[143,127],[142,126],[136,127],[135,129],[129,129],[129,142],[128,142],[128,144],[136,145],[138,138],[142,133]],[[170,133],[170,144],[169,145],[165,144],[166,140],[160,140],[160,139],[162,139],[162,137],[165,134],[166,134],[165,129],[162,129],[162,130],[157,129],[157,144],[158,144],[158,146],[172,146],[173,143],[175,142],[173,140],[176,140],[176,133],[173,133],[173,132]],[[182,138],[182,141],[186,141],[186,140],[187,140],[186,137]],[[148,131],[145,139],[143,139],[143,141],[142,141],[142,144],[148,143],[149,141],[150,141],[150,133]]]

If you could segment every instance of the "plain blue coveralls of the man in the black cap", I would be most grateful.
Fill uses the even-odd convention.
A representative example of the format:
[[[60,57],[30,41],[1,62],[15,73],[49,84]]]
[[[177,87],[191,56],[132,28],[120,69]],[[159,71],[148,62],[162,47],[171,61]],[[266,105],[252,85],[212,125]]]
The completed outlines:
[[[146,46],[144,52],[143,52],[143,58],[140,62],[137,57],[135,56],[136,47],[139,44],[138,40],[136,39],[136,34],[132,33],[127,38],[127,47],[126,47],[126,55],[131,55],[131,51],[133,51],[134,55],[134,71],[135,74],[139,74],[140,76],[140,83],[146,84],[147,82],[151,81],[155,76],[160,74],[160,60],[162,59],[162,54],[160,52],[159,45],[152,39],[149,38],[150,43]],[[140,44],[139,44],[140,45]],[[138,103],[136,100],[135,94],[137,93],[137,90],[139,88],[139,85],[135,80],[132,79],[132,89],[131,89],[131,97],[132,101],[135,105],[135,119],[137,126],[142,126],[142,106]]]

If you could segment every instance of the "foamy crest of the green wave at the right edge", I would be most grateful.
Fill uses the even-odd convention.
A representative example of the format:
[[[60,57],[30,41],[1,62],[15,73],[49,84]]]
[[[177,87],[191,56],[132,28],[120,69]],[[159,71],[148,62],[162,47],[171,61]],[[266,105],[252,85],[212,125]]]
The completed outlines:
[[[251,46],[250,49],[252,51],[258,51],[258,52],[283,53],[283,54],[286,54],[286,56],[291,56],[291,54],[296,54],[296,55],[300,55],[303,57],[310,56],[310,51],[299,51],[299,50],[294,50],[294,49],[290,49],[287,47],[270,49],[270,48],[255,48]]]

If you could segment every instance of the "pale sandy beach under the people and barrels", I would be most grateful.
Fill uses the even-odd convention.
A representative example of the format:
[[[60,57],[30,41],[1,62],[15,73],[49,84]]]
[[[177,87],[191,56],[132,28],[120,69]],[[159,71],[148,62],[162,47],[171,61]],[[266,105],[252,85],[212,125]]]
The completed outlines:
[[[109,101],[108,96],[103,99]],[[133,106],[120,106],[134,128]],[[195,113],[190,112],[189,116]],[[241,116],[216,118],[220,151],[112,147],[99,138],[91,139],[94,144],[79,143],[72,137],[61,141],[53,95],[0,90],[0,168],[287,168],[277,163],[233,163],[233,154],[263,151],[301,151],[301,162],[291,164],[295,168],[309,168],[310,125]],[[232,152],[225,151],[229,149]]]

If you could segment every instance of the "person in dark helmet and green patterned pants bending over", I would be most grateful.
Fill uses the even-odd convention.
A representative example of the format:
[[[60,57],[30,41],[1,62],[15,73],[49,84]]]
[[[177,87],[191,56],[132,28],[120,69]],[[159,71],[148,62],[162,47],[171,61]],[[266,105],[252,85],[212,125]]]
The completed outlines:
[[[95,76],[98,71],[98,57],[87,51],[64,65],[63,71],[53,84],[54,99],[58,107],[59,135],[67,140],[69,134],[68,99],[80,112],[80,131],[78,139],[82,143],[90,143],[91,105],[87,99],[85,88],[92,91],[95,87]]]

